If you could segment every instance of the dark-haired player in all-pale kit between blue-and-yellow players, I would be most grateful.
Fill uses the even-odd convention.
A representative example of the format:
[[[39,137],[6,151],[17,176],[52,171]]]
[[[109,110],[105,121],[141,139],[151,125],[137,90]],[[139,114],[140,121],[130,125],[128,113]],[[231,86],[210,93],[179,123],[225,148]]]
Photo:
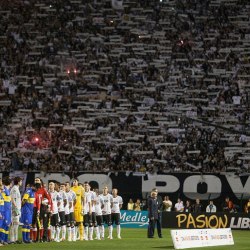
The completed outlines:
[[[11,216],[12,216],[12,223],[10,226],[10,241],[16,242],[18,240],[18,226],[19,220],[21,215],[21,194],[19,188],[22,186],[22,178],[15,177],[14,178],[14,186],[10,190],[10,197],[11,197]]]

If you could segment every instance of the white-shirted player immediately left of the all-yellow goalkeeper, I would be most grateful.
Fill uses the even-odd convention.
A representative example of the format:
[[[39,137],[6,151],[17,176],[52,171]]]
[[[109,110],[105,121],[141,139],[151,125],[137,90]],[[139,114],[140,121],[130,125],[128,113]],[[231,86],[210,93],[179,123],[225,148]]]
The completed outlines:
[[[63,186],[63,185],[62,185]],[[62,187],[63,188],[63,187]],[[65,191],[67,196],[67,204],[65,206],[65,218],[67,223],[68,241],[76,240],[75,235],[75,218],[74,204],[76,202],[76,194],[70,189],[70,183],[65,183]]]

